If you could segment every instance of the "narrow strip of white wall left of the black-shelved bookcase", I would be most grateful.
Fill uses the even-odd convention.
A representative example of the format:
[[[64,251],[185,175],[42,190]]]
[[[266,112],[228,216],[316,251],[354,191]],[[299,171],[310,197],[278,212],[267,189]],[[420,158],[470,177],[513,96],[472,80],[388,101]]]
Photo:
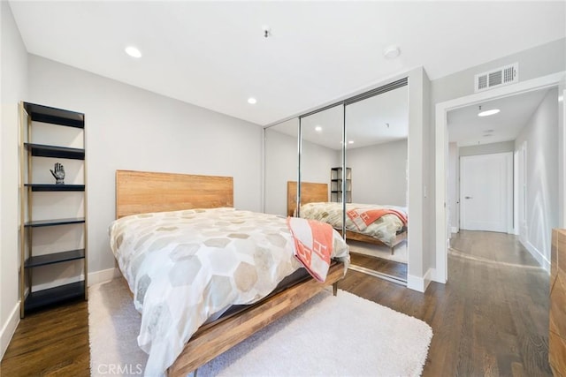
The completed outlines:
[[[27,52],[7,2],[0,2],[0,358],[19,321],[18,103],[27,96]]]

